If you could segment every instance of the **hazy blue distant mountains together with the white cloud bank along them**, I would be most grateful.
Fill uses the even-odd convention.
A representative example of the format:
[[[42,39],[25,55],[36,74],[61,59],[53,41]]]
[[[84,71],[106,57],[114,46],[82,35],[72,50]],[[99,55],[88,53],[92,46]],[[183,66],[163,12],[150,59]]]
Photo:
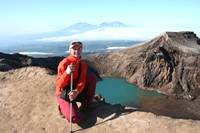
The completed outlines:
[[[181,30],[180,30],[181,29]],[[80,41],[99,41],[99,40],[133,40],[133,41],[146,41],[156,37],[159,33],[165,31],[190,31],[187,27],[180,28],[179,26],[153,26],[153,25],[129,25],[120,21],[102,22],[100,24],[90,24],[86,22],[78,22],[67,26],[66,28],[34,34],[15,36],[9,38],[1,38],[0,43],[38,43],[38,42],[66,42],[73,39]],[[196,29],[193,30],[200,35],[200,32]]]

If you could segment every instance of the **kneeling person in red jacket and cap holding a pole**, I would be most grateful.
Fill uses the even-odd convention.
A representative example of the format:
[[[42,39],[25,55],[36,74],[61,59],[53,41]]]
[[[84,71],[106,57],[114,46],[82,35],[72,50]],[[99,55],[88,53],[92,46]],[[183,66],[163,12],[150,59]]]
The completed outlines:
[[[81,59],[82,45],[80,41],[70,43],[69,56],[59,63],[56,79],[56,99],[60,114],[69,122],[70,102],[72,102],[73,123],[81,121],[79,107],[76,102],[81,102],[81,106],[87,106],[94,99],[100,100],[94,97],[96,89],[95,74],[87,72],[87,64]],[[70,91],[71,73],[73,73],[72,91]]]

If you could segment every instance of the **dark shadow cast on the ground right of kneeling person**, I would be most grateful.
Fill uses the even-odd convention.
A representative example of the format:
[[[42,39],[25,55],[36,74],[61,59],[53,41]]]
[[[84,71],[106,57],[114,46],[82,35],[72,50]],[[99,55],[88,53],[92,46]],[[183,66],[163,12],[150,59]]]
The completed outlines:
[[[106,121],[113,120],[121,115],[126,115],[133,111],[138,111],[137,108],[127,108],[120,104],[112,105],[105,102],[101,102],[92,105],[87,109],[80,109],[80,110],[81,114],[83,114],[85,118],[81,121],[81,123],[78,124],[82,128],[79,130],[90,128],[94,125],[102,124]],[[97,118],[101,118],[102,120],[97,121]]]

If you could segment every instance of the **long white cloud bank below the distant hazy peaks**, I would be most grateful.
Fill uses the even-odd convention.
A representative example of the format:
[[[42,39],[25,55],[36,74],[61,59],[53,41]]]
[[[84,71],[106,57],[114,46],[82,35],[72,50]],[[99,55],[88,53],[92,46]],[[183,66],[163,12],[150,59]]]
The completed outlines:
[[[184,30],[184,29],[183,29]],[[187,30],[187,29],[186,29]],[[137,40],[144,41],[158,36],[165,31],[179,31],[179,28],[165,27],[123,27],[123,28],[99,28],[74,34],[70,36],[47,37],[38,39],[45,42],[61,42],[73,39],[79,40]]]

